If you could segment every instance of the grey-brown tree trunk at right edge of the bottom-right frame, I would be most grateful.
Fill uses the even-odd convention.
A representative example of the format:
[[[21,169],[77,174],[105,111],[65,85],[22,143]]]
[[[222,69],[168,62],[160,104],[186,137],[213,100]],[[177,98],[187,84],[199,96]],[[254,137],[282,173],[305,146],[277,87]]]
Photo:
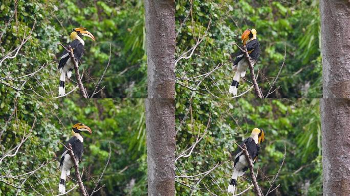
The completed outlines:
[[[350,100],[320,100],[323,195],[350,195]]]

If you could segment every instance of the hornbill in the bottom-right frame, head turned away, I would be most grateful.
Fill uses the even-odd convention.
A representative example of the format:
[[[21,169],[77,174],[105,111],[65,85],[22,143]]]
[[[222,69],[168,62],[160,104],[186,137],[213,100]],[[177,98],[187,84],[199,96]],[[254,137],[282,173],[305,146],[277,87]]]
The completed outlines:
[[[250,137],[243,140],[240,146],[243,148],[243,144],[246,144],[249,156],[252,158],[252,162],[255,160],[260,151],[260,143],[264,141],[264,130],[254,128]],[[249,162],[242,149],[238,148],[236,156],[234,158],[233,174],[228,187],[229,193],[234,193],[237,185],[237,177],[243,176],[249,168]]]

